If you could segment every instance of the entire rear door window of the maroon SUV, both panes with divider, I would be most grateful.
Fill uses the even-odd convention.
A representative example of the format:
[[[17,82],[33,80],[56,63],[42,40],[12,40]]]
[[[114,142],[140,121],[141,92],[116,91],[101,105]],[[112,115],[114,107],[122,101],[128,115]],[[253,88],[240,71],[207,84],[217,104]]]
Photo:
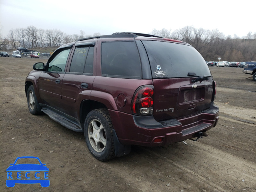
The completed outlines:
[[[92,74],[93,52],[94,47],[76,47],[69,72]]]

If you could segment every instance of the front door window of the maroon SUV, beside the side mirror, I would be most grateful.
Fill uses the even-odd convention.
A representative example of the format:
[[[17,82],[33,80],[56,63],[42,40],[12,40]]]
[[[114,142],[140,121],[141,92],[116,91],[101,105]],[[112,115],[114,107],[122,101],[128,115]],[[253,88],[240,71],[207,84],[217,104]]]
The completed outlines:
[[[58,54],[49,62],[48,71],[64,72],[70,48],[60,50]]]

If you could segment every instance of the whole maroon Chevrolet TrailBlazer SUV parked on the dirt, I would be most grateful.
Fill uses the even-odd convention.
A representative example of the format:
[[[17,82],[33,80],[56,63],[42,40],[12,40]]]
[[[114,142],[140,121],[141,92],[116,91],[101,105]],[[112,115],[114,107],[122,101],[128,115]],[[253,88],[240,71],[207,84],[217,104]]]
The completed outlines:
[[[219,118],[216,82],[182,41],[126,32],[84,38],[33,69],[25,84],[30,112],[84,132],[101,161],[128,154],[132,144],[200,138]]]

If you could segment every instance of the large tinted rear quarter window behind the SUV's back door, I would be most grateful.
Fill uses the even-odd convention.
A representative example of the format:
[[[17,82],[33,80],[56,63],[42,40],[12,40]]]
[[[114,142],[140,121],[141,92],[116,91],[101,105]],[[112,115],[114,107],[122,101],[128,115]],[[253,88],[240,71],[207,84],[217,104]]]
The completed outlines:
[[[140,78],[141,65],[133,41],[103,42],[101,45],[102,76]]]

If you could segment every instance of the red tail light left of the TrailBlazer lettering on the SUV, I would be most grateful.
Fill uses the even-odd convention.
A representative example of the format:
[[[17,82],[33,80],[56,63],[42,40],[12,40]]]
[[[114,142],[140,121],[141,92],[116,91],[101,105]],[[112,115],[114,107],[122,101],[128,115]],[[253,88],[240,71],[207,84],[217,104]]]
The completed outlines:
[[[136,90],[132,99],[132,112],[136,115],[153,114],[154,86],[143,86]]]

